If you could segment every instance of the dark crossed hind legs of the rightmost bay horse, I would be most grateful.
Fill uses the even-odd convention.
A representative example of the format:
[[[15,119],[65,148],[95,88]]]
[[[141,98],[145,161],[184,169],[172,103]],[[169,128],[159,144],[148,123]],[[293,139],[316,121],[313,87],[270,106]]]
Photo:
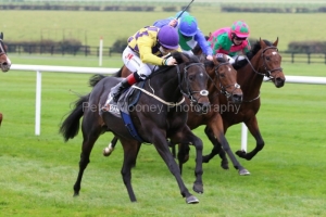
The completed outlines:
[[[218,142],[218,140],[214,137],[213,131],[209,128],[205,127],[205,135],[210,139],[210,141],[213,143],[213,150],[210,154],[204,155],[202,157],[203,163],[209,163],[216,154],[220,155],[222,162],[221,162],[221,167],[223,169],[228,169],[228,161],[225,154],[225,151],[222,149],[222,144]]]

